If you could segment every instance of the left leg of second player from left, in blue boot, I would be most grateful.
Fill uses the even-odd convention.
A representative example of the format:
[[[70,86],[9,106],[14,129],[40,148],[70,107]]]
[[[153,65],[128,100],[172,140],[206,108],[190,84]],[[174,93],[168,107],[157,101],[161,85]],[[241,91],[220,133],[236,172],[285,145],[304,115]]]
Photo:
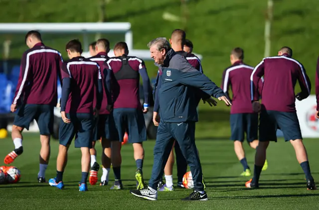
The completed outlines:
[[[49,185],[62,189],[63,184],[63,173],[67,164],[67,151],[69,149],[70,143],[75,136],[74,125],[76,122],[76,117],[70,116],[68,113],[66,117],[71,120],[71,123],[64,123],[61,119],[59,126],[59,152],[56,159],[56,177],[49,180]]]

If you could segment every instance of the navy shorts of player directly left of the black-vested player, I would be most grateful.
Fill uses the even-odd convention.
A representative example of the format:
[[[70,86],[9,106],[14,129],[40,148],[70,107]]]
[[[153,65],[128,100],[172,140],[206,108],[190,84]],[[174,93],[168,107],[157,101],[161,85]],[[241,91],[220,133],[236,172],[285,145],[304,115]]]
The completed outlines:
[[[95,119],[93,140],[100,140],[101,138],[119,140],[119,134],[115,127],[112,114],[99,115],[99,117]]]

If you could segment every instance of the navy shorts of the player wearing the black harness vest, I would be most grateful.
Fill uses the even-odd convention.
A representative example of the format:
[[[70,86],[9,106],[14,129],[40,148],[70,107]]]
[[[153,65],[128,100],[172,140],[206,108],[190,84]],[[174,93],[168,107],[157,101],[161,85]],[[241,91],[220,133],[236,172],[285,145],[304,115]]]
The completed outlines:
[[[146,126],[142,110],[134,108],[117,108],[113,110],[115,126],[122,142],[125,132],[130,143],[140,143],[147,140]]]

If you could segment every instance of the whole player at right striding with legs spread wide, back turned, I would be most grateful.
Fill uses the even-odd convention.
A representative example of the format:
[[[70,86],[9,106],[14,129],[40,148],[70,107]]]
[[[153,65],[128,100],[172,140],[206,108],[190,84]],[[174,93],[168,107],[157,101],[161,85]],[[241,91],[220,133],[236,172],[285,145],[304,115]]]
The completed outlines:
[[[246,182],[247,188],[259,187],[259,177],[266,159],[266,149],[269,141],[277,141],[276,130],[280,129],[284,133],[285,141],[290,141],[296,151],[297,160],[306,175],[308,189],[316,189],[295,106],[296,98],[301,101],[309,96],[311,83],[303,65],[291,58],[292,55],[291,48],[283,47],[278,52],[278,56],[264,58],[251,74],[253,109],[255,112],[261,111],[261,114],[254,177]],[[263,75],[265,80],[260,105],[258,82]],[[301,92],[295,95],[297,80]]]

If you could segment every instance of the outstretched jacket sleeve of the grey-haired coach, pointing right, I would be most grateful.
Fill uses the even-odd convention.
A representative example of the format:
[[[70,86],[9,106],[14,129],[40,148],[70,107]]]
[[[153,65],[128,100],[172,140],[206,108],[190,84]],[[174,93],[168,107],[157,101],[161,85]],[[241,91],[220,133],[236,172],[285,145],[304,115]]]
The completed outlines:
[[[180,75],[178,79],[180,83],[199,88],[215,98],[225,95],[220,87],[212,82],[205,74],[192,67],[186,59],[180,59],[179,61]]]

